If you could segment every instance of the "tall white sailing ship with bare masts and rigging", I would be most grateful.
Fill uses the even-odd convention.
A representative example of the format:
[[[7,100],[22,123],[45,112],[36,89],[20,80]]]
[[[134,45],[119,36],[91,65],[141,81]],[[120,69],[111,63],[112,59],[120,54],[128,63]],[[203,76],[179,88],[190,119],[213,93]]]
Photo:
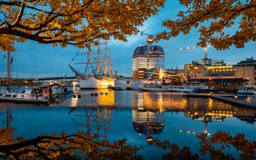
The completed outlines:
[[[109,89],[114,86],[111,65],[108,43],[98,42],[97,46],[78,52],[68,66],[78,78],[80,89]]]

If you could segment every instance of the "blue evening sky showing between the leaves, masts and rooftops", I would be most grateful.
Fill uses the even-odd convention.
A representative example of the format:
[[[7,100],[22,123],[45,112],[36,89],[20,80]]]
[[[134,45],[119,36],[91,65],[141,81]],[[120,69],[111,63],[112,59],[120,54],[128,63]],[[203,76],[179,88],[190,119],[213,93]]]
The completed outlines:
[[[167,18],[176,19],[176,14],[183,7],[178,1],[168,0],[165,8],[160,9],[160,13],[149,18],[141,31],[149,27],[146,34],[155,34],[161,31],[161,22]],[[231,28],[230,31],[236,31]],[[197,29],[190,31],[189,35],[179,35],[168,41],[160,41],[160,45],[166,54],[166,68],[178,67],[183,68],[184,64],[192,60],[201,60],[204,56],[204,50],[196,48],[193,50],[179,50],[178,48],[192,47],[198,41],[199,33]],[[112,40],[108,42],[108,48],[112,54],[113,71],[118,71],[119,75],[131,76],[132,74],[132,54],[140,44],[146,43],[147,36],[131,36],[128,42],[119,42]],[[224,60],[227,64],[236,64],[240,60],[245,60],[255,54],[255,42],[247,43],[245,48],[236,49],[235,47],[225,51],[217,51],[212,47],[208,48],[208,57],[212,59]],[[14,77],[34,77],[40,76],[61,76],[67,73],[73,76],[68,64],[77,53],[78,48],[67,46],[66,48],[53,47],[52,45],[41,45],[37,42],[26,41],[26,43],[16,43],[16,51],[13,53],[15,58],[12,66],[12,76]],[[83,50],[83,49],[80,49]],[[1,72],[0,77],[6,74],[6,62],[3,60],[3,52],[0,56]]]

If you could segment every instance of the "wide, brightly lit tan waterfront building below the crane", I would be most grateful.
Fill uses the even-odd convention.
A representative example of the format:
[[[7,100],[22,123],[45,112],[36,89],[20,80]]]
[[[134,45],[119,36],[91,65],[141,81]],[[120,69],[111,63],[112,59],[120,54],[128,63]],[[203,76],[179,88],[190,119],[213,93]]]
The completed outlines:
[[[184,66],[188,83],[205,83],[216,90],[239,89],[247,79],[236,77],[236,67],[226,65],[224,60],[212,60],[207,56]]]

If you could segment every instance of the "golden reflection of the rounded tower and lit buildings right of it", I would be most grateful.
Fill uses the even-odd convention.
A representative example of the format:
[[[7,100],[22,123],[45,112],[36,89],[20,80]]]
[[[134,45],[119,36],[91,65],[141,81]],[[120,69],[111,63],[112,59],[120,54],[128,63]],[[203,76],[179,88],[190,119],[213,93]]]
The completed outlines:
[[[184,112],[184,117],[204,124],[204,130],[183,130],[186,134],[207,134],[208,124],[224,122],[227,117],[237,117],[241,121],[256,122],[256,110],[231,106],[227,103],[205,98],[183,98],[182,94],[138,92],[132,96],[132,124],[137,134],[152,137],[161,134],[165,127],[164,114]]]

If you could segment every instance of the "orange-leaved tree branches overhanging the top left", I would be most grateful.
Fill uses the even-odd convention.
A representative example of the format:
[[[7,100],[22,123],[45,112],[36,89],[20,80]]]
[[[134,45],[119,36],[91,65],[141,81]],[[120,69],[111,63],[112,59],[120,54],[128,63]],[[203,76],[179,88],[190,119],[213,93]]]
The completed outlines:
[[[126,40],[165,0],[13,0],[0,2],[0,49],[15,42],[89,47],[96,38]]]

